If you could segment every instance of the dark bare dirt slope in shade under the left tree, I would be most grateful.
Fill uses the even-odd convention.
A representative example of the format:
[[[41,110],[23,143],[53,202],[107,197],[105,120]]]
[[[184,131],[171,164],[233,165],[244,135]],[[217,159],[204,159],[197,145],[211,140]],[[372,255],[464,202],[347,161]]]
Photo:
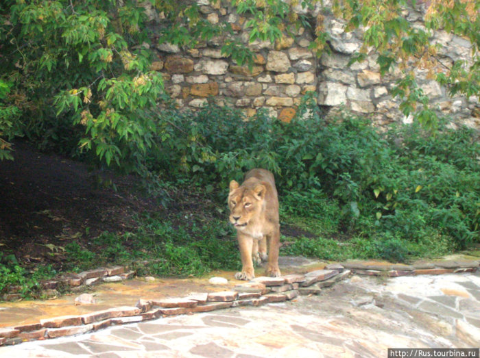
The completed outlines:
[[[14,161],[0,162],[0,252],[26,266],[61,264],[59,246],[134,229],[134,216],[157,206],[134,194],[132,177],[116,179],[117,192],[98,189],[82,162],[40,153],[26,142],[14,149]]]

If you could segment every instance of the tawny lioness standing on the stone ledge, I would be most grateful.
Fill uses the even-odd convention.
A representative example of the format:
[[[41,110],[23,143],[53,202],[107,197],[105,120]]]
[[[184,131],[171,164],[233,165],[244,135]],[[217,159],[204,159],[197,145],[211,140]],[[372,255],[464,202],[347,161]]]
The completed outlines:
[[[265,169],[252,169],[245,174],[241,186],[235,180],[230,181],[228,206],[241,253],[242,268],[235,274],[235,279],[251,280],[255,277],[252,259],[261,263],[267,258],[267,242],[266,275],[279,277],[280,225],[274,175]]]

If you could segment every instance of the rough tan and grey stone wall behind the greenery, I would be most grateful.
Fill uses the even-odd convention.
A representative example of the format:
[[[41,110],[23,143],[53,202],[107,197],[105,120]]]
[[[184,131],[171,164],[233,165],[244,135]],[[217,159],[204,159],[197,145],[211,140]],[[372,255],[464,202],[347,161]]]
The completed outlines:
[[[317,58],[308,49],[313,41],[311,31],[300,28],[296,35],[285,35],[275,44],[255,41],[248,44],[243,16],[239,16],[225,2],[211,5],[208,0],[197,0],[200,11],[211,23],[230,23],[235,36],[249,46],[256,55],[252,72],[247,66],[238,66],[221,55],[225,38],[213,38],[195,49],[183,50],[171,44],[156,46],[158,60],[153,68],[163,73],[165,88],[179,107],[198,108],[209,99],[219,105],[230,105],[245,110],[252,116],[265,108],[280,120],[289,121],[307,91],[318,93],[318,104],[326,112],[345,107],[352,112],[372,116],[377,125],[394,120],[411,121],[398,110],[398,100],[389,95],[389,88],[400,73],[392,71],[383,77],[376,57],[348,67],[350,56],[361,47],[361,30],[347,33],[344,23],[330,12],[324,14],[324,25],[332,35],[331,54]],[[304,12],[297,7],[298,12]],[[320,11],[312,10],[313,18]],[[405,10],[406,18],[422,26],[422,14]],[[155,20],[152,18],[152,20]],[[156,19],[161,23],[160,19]],[[437,32],[432,39],[443,45],[439,55],[447,66],[454,60],[468,58],[468,40]],[[419,83],[433,105],[452,116],[455,123],[464,123],[480,129],[478,99],[450,98],[445,88],[429,79],[427,71],[417,70]]]

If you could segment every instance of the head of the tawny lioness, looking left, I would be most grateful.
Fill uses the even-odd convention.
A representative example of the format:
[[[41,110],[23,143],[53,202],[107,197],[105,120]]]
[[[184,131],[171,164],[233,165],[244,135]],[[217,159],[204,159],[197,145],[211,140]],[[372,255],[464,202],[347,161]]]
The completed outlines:
[[[267,188],[263,184],[256,184],[254,188],[239,186],[237,181],[230,181],[228,207],[230,207],[230,223],[237,230],[245,228],[252,218],[257,218],[265,201]]]

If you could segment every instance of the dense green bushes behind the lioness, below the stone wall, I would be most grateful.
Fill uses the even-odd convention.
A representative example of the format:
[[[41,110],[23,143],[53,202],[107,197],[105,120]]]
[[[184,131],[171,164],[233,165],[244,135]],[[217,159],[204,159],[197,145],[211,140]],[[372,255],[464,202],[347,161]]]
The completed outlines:
[[[411,242],[446,237],[456,248],[478,240],[475,131],[442,127],[433,136],[409,125],[379,133],[350,114],[326,123],[308,102],[289,124],[265,113],[245,120],[227,107],[165,113],[149,168],[163,181],[220,199],[231,179],[267,168],[276,175],[283,216],[320,218],[324,233]]]

